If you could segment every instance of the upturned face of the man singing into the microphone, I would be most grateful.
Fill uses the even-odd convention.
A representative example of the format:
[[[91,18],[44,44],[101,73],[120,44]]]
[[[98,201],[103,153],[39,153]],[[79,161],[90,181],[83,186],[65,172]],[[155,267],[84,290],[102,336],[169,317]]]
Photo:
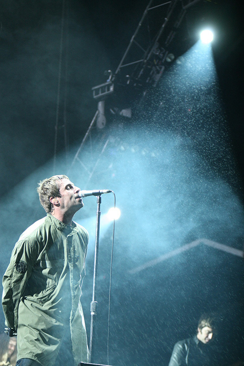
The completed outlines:
[[[81,189],[68,179],[61,179],[58,183],[61,197],[57,197],[57,200],[59,201],[60,208],[63,212],[74,215],[84,205],[81,197],[78,196]]]

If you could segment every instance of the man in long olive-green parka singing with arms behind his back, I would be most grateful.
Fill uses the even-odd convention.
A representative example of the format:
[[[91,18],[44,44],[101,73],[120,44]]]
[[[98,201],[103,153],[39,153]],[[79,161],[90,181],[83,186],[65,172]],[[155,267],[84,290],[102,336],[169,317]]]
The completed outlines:
[[[37,188],[46,217],[16,243],[3,276],[5,325],[17,332],[16,366],[88,362],[80,303],[88,232],[73,221],[83,207],[76,187],[56,175]]]

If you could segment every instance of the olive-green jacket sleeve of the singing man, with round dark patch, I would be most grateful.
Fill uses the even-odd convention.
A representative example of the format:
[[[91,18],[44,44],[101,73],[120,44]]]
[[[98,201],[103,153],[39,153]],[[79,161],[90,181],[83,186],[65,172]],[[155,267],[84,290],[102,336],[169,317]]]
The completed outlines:
[[[28,241],[17,242],[2,279],[2,308],[5,325],[14,328],[15,331],[18,328],[20,299],[37,258],[37,247],[38,245],[30,244]]]

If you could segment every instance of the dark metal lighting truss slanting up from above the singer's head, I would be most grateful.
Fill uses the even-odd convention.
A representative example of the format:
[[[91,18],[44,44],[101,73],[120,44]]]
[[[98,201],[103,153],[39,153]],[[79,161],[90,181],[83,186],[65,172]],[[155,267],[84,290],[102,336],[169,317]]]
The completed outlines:
[[[111,145],[111,134],[104,128],[105,112],[110,111],[111,115],[125,119],[131,117],[129,104],[138,96],[143,99],[149,87],[156,87],[165,67],[176,58],[171,47],[173,41],[187,9],[199,1],[150,0],[115,73],[105,71],[106,81],[92,88],[98,110],[70,165],[71,169],[79,163],[83,173],[87,174],[87,183],[99,169],[104,151]],[[98,136],[100,130],[102,133]],[[93,157],[89,166],[81,157],[86,141],[89,141],[90,157]]]

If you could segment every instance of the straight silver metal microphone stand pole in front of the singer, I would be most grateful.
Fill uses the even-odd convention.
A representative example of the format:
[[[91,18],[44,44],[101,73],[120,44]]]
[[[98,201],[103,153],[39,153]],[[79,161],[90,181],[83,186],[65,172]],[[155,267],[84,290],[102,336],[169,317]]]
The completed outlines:
[[[97,203],[97,222],[96,222],[96,240],[95,240],[95,259],[94,259],[94,273],[93,273],[93,292],[91,302],[91,327],[90,327],[90,348],[89,348],[89,363],[93,362],[94,350],[93,342],[95,337],[95,325],[96,325],[96,314],[97,314],[97,279],[98,279],[98,249],[99,249],[99,232],[100,232],[100,217],[101,217],[101,196],[98,196]]]

